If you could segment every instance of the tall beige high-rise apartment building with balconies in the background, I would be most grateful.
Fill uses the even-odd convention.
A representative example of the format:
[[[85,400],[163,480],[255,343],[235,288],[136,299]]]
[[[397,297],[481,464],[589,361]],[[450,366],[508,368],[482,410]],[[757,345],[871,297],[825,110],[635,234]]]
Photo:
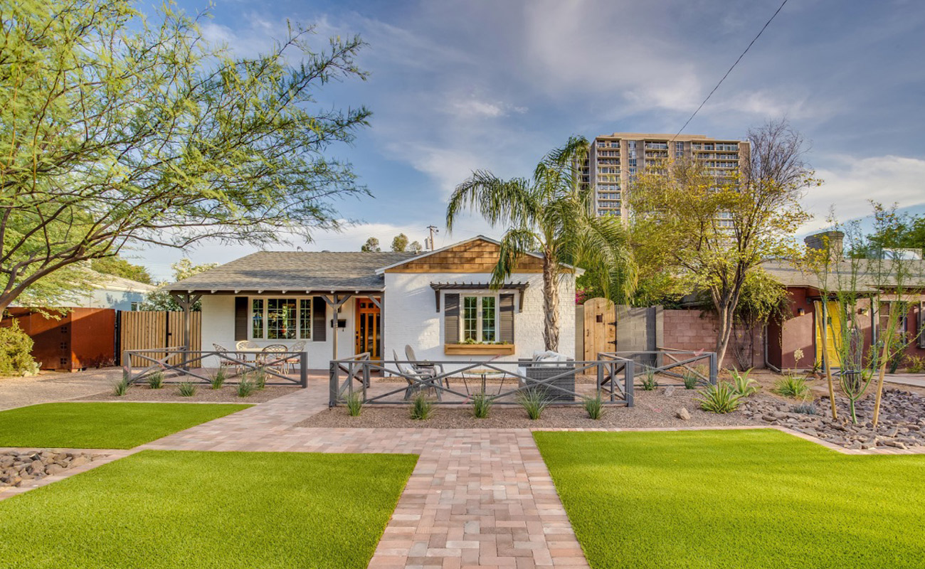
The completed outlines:
[[[598,216],[621,216],[629,212],[623,199],[630,180],[647,167],[660,167],[669,157],[693,156],[709,172],[723,176],[749,159],[749,143],[712,139],[702,134],[646,134],[614,132],[598,136],[591,143],[582,170],[583,181],[595,189],[594,208]]]

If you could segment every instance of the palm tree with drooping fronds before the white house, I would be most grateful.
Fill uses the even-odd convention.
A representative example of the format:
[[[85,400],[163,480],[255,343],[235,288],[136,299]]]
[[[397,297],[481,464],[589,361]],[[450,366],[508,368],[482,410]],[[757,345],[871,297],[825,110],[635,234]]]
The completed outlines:
[[[559,349],[559,281],[573,267],[595,269],[612,300],[625,300],[635,289],[635,264],[622,222],[596,216],[592,189],[580,183],[587,152],[587,140],[573,136],[536,165],[532,179],[499,179],[476,170],[456,187],[447,206],[447,229],[464,210],[505,228],[492,287],[500,287],[525,254],[543,254],[547,350]]]

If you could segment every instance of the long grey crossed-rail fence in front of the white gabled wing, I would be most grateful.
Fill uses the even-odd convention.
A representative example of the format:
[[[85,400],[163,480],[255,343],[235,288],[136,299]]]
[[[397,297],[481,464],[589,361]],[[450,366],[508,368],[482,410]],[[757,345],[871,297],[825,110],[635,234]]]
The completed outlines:
[[[605,404],[632,406],[634,365],[614,358],[555,363],[373,361],[363,353],[330,362],[328,404],[335,407],[356,393],[364,403],[407,404],[413,395],[425,392],[438,404],[468,404],[484,393],[492,403],[512,405],[524,393],[540,390],[554,405],[580,405],[597,395]],[[582,380],[590,390],[579,390]]]

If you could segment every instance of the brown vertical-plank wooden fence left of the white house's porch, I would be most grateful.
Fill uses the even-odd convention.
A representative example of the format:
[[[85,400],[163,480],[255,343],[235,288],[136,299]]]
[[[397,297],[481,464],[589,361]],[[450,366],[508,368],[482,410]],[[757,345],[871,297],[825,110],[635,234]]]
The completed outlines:
[[[191,312],[190,351],[198,352],[203,349],[203,313]],[[181,346],[183,342],[183,313],[163,311],[138,311],[119,313],[119,352],[137,350],[165,350],[159,357],[166,357],[166,349],[170,346]],[[152,356],[154,353],[147,353]],[[173,354],[170,364],[179,364],[179,355]],[[121,365],[129,362],[120,362]],[[131,356],[130,365],[142,365],[141,359]]]

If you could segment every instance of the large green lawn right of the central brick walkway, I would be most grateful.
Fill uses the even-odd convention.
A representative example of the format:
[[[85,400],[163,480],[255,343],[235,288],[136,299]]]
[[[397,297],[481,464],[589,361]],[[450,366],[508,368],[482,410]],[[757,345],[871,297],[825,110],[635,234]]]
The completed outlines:
[[[595,569],[925,563],[925,456],[765,429],[535,438]]]

